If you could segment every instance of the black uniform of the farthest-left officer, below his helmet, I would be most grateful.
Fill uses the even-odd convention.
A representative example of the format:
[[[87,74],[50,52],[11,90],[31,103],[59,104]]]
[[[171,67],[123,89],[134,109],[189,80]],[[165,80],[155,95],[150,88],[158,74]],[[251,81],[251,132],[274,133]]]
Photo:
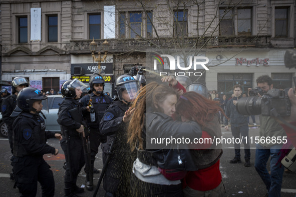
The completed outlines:
[[[17,95],[12,94],[7,96],[2,101],[2,118],[8,127],[8,140],[10,143],[11,150],[13,151],[13,123],[15,121],[15,117],[11,117],[10,115],[13,113],[14,109],[17,106]]]

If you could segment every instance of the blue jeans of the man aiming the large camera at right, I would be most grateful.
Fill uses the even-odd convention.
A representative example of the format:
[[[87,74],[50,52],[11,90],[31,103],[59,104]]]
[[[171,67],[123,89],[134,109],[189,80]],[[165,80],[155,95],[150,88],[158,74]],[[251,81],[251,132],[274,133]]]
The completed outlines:
[[[255,169],[266,185],[268,196],[280,196],[281,180],[284,167],[280,167],[280,163],[276,165],[279,159],[277,154],[282,144],[273,145],[270,148],[263,149],[260,144],[256,144]],[[266,163],[270,158],[270,175],[266,168]]]

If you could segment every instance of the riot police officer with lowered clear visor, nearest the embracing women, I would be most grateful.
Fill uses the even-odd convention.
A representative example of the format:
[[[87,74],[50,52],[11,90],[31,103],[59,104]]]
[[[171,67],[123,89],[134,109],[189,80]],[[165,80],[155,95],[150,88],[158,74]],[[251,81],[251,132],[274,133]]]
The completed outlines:
[[[124,74],[116,79],[114,86],[117,98],[109,105],[100,123],[101,133],[107,135],[107,143],[103,146],[104,162],[113,140],[116,140],[107,163],[103,187],[105,196],[130,196],[129,179],[136,155],[127,144],[126,127],[129,119],[125,118],[125,113],[130,110],[130,104],[137,96],[139,83],[133,76]]]

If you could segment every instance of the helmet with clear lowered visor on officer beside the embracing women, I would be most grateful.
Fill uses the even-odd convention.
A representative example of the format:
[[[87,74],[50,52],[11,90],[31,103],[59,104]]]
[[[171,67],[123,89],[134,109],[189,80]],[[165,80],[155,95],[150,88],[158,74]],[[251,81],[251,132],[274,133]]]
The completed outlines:
[[[137,97],[139,83],[133,76],[129,74],[123,74],[115,80],[114,87],[117,92],[118,99],[124,100],[122,97],[122,92],[127,90],[127,93],[132,100]]]

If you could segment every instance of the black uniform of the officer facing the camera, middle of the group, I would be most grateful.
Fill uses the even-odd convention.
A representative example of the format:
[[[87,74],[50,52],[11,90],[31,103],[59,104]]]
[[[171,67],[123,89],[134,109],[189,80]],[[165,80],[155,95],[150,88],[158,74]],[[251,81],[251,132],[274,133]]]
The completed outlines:
[[[96,121],[93,122],[90,118],[90,112],[87,110],[90,99],[92,99],[96,116]],[[106,136],[100,133],[99,124],[107,106],[112,103],[112,99],[107,95],[95,95],[94,92],[91,92],[82,97],[79,102],[82,104],[82,114],[87,119],[90,128],[91,163],[93,168],[100,143],[106,143]]]

